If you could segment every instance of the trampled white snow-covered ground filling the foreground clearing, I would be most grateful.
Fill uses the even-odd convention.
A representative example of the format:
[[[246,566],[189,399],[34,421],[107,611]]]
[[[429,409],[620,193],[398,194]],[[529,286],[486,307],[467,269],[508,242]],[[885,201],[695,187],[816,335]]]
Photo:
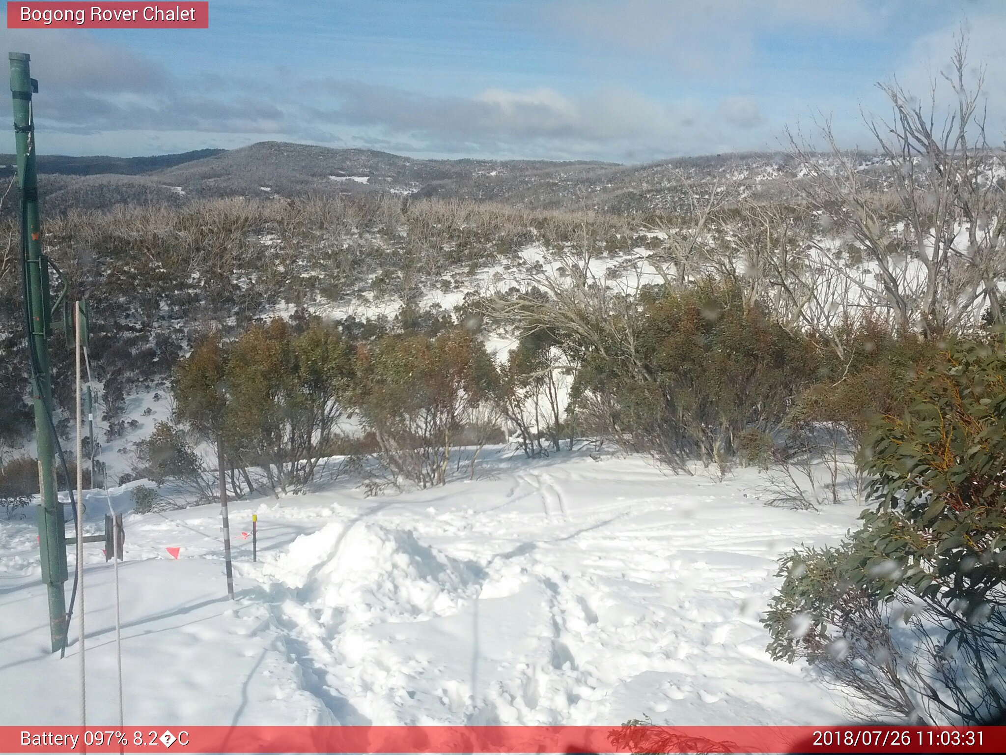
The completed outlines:
[[[366,498],[345,479],[232,503],[233,602],[218,506],[127,513],[126,721],[840,722],[838,693],[770,660],[759,616],[778,556],[837,541],[858,509],[766,507],[761,484],[497,448],[443,488]],[[112,491],[117,510],[131,486]],[[105,495],[86,501],[97,527]],[[113,585],[87,546],[93,725],[117,721]],[[70,636],[65,659],[47,652],[34,522],[0,519],[0,686],[17,690],[0,723],[76,722],[75,620]]]

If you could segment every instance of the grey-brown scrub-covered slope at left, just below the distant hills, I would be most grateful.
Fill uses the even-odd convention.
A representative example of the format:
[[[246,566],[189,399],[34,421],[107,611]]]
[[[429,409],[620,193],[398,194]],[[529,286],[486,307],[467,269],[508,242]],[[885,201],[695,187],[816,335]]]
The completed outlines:
[[[591,212],[366,194],[74,209],[46,219],[44,242],[68,296],[91,302],[92,362],[115,408],[131,387],[166,380],[211,327],[229,338],[279,306],[361,293],[414,310],[424,294],[464,288],[470,274],[529,244],[561,249],[584,230],[603,252],[641,241],[624,219]],[[0,442],[8,443],[31,426],[18,233],[9,218],[0,224]],[[68,408],[71,385],[59,375],[69,351],[59,336],[52,356],[55,400]],[[105,422],[115,434],[123,419],[113,411]]]

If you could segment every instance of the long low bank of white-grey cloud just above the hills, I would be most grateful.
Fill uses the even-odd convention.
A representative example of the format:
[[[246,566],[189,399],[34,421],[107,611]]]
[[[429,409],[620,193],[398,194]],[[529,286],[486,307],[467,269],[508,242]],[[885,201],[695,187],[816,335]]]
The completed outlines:
[[[652,160],[757,150],[771,145],[757,102],[727,98],[718,107],[659,103],[617,89],[572,97],[551,88],[492,88],[470,98],[434,97],[362,82],[326,80],[312,91],[337,107],[309,120],[352,142],[367,134],[405,140],[413,151],[555,158]]]

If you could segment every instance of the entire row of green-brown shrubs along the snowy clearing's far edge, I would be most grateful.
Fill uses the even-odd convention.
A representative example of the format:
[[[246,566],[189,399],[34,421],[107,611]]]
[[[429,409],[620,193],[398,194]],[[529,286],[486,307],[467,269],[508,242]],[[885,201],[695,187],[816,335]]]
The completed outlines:
[[[347,453],[376,453],[389,479],[444,484],[460,446],[504,439],[528,456],[593,439],[721,475],[736,463],[823,460],[837,479],[945,347],[869,318],[828,338],[787,329],[729,283],[708,280],[649,289],[596,329],[535,312],[524,310],[522,335],[499,359],[475,316],[406,311],[386,325],[299,316],[232,338],[215,330],[173,371],[176,420],[189,451],[221,444],[235,494],[255,486],[252,469],[276,492],[302,489],[322,460]],[[171,443],[185,440],[172,433]],[[161,479],[156,434],[145,443],[140,472]],[[779,492],[780,504],[805,507],[840,494],[795,481]]]

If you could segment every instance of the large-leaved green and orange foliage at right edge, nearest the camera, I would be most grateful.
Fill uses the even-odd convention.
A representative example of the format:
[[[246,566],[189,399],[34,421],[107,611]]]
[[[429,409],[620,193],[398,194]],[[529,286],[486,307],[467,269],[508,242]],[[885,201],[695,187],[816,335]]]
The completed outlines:
[[[1006,348],[953,348],[919,373],[907,401],[863,450],[876,501],[863,515],[872,558],[893,554],[903,567],[880,597],[904,585],[964,617],[984,612],[1006,597]]]

